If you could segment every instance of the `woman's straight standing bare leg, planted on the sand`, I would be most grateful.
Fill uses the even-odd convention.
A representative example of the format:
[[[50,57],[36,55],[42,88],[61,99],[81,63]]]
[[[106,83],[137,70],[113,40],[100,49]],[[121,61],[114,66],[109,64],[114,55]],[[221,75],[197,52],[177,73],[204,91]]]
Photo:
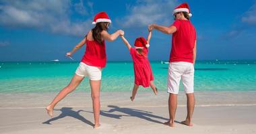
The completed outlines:
[[[100,127],[100,82],[101,80],[90,80],[94,109],[94,129]]]

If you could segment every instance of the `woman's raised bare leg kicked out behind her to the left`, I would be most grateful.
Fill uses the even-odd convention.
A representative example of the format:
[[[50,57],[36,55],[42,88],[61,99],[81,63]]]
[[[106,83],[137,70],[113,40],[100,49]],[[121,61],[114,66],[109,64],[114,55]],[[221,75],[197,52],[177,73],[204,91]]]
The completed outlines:
[[[78,76],[75,74],[73,78],[71,79],[71,82],[69,82],[69,85],[67,85],[65,88],[63,88],[57,96],[53,99],[53,101],[46,107],[46,111],[50,117],[53,117],[53,109],[59,101],[61,101],[67,94],[75,90],[75,88],[82,82],[84,77]]]

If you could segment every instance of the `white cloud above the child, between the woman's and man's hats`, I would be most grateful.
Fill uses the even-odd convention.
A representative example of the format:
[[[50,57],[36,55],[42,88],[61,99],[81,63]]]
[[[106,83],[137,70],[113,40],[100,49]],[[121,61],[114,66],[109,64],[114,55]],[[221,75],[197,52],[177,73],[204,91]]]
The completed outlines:
[[[143,27],[150,23],[169,25],[173,20],[172,10],[177,5],[176,0],[138,0],[136,5],[127,5],[129,14],[117,23],[123,27]]]

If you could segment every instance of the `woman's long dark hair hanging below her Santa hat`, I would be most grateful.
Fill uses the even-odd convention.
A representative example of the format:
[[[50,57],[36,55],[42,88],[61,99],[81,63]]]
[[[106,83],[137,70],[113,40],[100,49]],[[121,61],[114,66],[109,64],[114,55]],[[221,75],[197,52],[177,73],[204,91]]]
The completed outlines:
[[[95,27],[92,29],[92,37],[96,42],[102,44],[101,31],[108,31],[108,22],[96,23]]]

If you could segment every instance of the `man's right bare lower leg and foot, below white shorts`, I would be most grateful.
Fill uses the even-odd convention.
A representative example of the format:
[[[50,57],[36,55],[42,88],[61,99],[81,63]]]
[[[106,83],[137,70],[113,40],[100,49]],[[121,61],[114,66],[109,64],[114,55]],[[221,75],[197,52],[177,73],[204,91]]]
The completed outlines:
[[[186,95],[187,95],[187,118],[185,121],[181,123],[192,127],[193,126],[192,115],[195,108],[195,96],[194,96],[194,93],[186,94]]]

